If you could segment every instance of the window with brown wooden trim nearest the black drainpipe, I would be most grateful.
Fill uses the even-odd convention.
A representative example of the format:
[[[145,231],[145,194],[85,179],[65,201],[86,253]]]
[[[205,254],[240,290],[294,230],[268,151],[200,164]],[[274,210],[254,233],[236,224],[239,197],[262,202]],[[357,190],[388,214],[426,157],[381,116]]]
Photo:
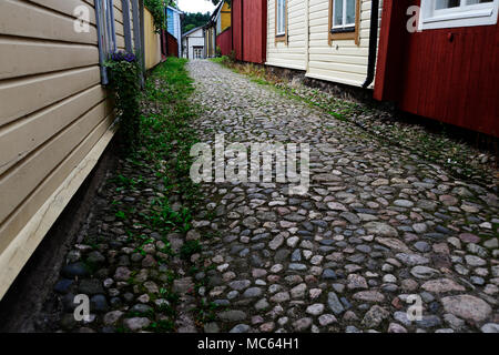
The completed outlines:
[[[359,41],[359,0],[329,0],[329,44],[334,40]]]

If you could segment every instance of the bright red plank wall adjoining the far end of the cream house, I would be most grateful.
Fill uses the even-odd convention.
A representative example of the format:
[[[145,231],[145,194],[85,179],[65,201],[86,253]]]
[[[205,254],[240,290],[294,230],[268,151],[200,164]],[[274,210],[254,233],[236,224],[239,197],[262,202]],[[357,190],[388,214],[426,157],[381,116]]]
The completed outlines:
[[[266,61],[267,1],[233,0],[232,27],[236,59],[263,64]]]

